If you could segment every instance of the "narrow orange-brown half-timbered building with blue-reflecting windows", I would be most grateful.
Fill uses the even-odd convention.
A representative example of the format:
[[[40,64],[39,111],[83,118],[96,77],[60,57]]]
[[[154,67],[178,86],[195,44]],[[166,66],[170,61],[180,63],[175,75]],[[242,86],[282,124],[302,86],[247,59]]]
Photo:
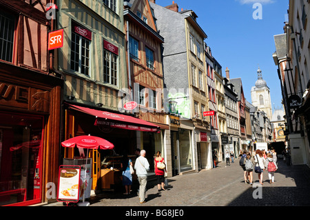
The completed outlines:
[[[163,110],[163,37],[158,34],[156,18],[148,0],[130,0],[124,8],[125,31],[128,41],[128,79],[132,100],[138,105],[133,110],[140,119],[156,124],[160,132],[136,133],[138,148],[147,151],[147,159],[154,170],[154,154],[165,157],[166,130],[169,130]],[[170,160],[169,160],[170,161]],[[167,164],[171,164],[166,161]],[[168,172],[171,166],[168,166]],[[170,170],[171,173],[171,170]]]

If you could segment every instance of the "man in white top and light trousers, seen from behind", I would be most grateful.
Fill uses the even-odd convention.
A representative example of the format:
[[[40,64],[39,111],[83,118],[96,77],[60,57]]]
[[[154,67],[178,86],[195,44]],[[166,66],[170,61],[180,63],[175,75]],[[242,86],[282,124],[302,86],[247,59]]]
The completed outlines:
[[[136,170],[136,175],[140,184],[139,187],[139,199],[140,203],[145,203],[145,192],[147,185],[147,171],[149,171],[149,162],[145,158],[145,150],[141,150],[140,157],[136,159],[134,163],[134,169]]]

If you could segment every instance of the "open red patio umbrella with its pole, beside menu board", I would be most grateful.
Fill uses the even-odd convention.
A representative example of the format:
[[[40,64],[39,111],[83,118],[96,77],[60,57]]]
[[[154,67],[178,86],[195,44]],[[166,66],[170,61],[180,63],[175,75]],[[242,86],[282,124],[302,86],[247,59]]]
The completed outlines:
[[[87,157],[88,157],[88,149],[98,149],[100,147],[101,150],[112,150],[114,148],[114,144],[110,143],[109,141],[101,138],[101,137],[95,137],[90,135],[81,135],[72,137],[66,141],[61,142],[61,146],[65,148],[74,148],[75,146],[77,148],[86,148],[87,154],[86,154],[86,163],[87,163]],[[87,168],[85,168],[87,170]],[[85,170],[85,176],[84,181],[86,181],[86,170]],[[84,184],[84,190],[85,190]],[[83,194],[83,203],[81,203],[81,206],[89,206],[89,203],[85,203],[85,193]]]

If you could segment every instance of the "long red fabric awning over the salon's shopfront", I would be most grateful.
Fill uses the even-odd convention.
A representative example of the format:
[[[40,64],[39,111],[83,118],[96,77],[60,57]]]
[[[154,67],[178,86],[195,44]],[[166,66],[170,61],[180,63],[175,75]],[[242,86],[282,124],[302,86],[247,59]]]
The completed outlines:
[[[145,132],[158,132],[159,126],[154,123],[137,119],[125,114],[116,114],[113,112],[105,112],[92,108],[69,105],[69,108],[91,114],[96,117],[95,126],[104,126],[107,128],[121,128],[127,130],[140,130]]]

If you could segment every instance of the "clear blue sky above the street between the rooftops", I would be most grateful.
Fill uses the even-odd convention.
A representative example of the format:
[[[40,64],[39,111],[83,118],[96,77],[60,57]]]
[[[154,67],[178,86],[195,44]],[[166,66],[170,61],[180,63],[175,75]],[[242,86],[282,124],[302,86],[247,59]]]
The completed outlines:
[[[272,54],[276,51],[273,35],[283,34],[289,0],[175,0],[179,10],[191,9],[198,15],[198,23],[208,35],[205,40],[212,55],[230,78],[241,78],[245,98],[251,103],[251,88],[257,80],[258,66],[271,91],[271,103],[281,108],[282,94],[277,66]],[[262,5],[262,19],[254,19]],[[172,0],[156,0],[168,6]],[[274,110],[274,109],[273,109]]]

